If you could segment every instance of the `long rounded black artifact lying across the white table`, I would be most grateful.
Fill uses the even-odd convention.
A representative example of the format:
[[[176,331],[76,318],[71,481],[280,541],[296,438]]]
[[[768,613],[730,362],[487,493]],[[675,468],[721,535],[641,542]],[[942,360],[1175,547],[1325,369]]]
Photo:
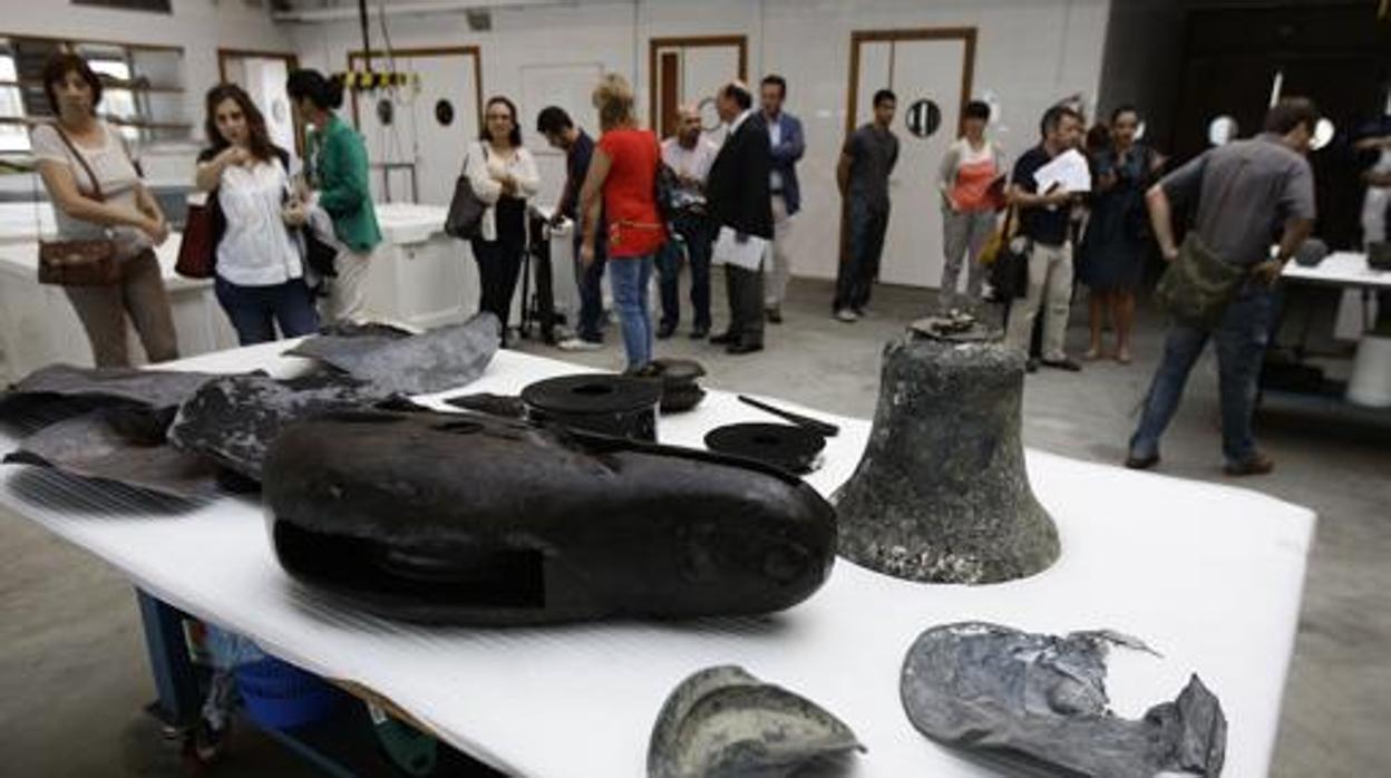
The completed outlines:
[[[291,575],[415,621],[765,614],[835,558],[835,511],[776,469],[479,413],[309,419],[262,479]]]

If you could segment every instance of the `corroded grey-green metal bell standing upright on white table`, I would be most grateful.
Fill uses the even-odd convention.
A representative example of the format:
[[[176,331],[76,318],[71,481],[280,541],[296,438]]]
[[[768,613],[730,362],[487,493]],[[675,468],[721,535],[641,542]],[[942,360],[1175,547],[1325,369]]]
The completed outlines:
[[[970,320],[915,324],[883,352],[879,408],[835,497],[840,554],[921,582],[995,583],[1059,555],[1020,441],[1024,355]]]

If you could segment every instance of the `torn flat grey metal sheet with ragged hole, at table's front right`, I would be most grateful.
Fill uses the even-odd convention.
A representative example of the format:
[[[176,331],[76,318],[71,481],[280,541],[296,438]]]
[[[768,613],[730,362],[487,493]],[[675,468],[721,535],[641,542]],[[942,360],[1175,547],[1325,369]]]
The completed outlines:
[[[1227,718],[1198,676],[1139,721],[1106,697],[1114,632],[1031,635],[964,622],[924,632],[903,664],[903,707],[919,732],[1011,772],[1068,778],[1221,774]]]

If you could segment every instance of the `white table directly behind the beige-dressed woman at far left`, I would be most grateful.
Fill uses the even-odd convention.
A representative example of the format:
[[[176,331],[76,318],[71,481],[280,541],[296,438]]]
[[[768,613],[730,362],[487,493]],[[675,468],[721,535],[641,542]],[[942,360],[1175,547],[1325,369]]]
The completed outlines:
[[[164,273],[179,352],[223,351],[236,345],[236,333],[213,294],[211,280],[174,273],[181,235],[170,235],[156,256]],[[134,327],[131,355],[142,360]],[[39,244],[29,238],[0,242],[0,379],[15,380],[53,362],[92,365],[82,321],[61,287],[39,283]]]

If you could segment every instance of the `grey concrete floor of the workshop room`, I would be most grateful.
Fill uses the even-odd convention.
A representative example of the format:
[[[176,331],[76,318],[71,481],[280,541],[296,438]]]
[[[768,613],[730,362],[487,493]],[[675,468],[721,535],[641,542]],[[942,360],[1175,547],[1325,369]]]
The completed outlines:
[[[716,284],[716,288],[722,288]],[[677,338],[659,355],[694,356],[707,384],[786,397],[825,411],[869,416],[881,344],[931,306],[931,292],[881,289],[858,324],[833,321],[829,285],[796,283],[787,323],[769,327],[768,351],[726,358]],[[718,319],[722,320],[722,319]],[[1084,348],[1081,321],[1071,347]],[[1043,372],[1028,381],[1024,438],[1106,463],[1124,455],[1160,349],[1145,317],[1132,366],[1095,363],[1078,374]],[[577,359],[620,366],[618,333],[604,352]],[[523,344],[524,351],[556,355]],[[1313,508],[1317,540],[1288,681],[1273,775],[1369,777],[1385,772],[1391,732],[1391,427],[1340,422],[1271,406],[1262,444],[1274,475],[1242,482]],[[1216,373],[1210,356],[1164,441],[1163,472],[1223,482]],[[1120,507],[1118,507],[1120,508]],[[93,557],[0,512],[0,772],[24,777],[174,777],[188,774],[178,747],[140,708],[152,696],[129,585]],[[255,732],[242,731],[224,775],[310,775]]]

